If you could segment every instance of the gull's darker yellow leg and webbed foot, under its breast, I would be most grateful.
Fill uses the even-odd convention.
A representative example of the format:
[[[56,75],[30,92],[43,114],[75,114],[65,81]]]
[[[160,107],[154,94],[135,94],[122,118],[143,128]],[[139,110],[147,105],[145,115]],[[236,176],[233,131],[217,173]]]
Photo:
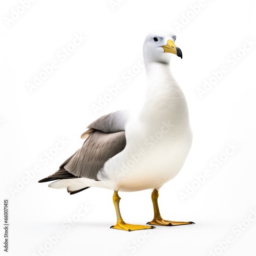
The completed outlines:
[[[179,226],[179,225],[188,225],[188,224],[195,224],[194,222],[181,222],[181,221],[167,221],[163,220],[160,215],[159,207],[158,207],[158,191],[156,189],[153,190],[151,199],[153,202],[154,207],[154,219],[151,222],[147,222],[150,225],[162,225],[162,226]]]

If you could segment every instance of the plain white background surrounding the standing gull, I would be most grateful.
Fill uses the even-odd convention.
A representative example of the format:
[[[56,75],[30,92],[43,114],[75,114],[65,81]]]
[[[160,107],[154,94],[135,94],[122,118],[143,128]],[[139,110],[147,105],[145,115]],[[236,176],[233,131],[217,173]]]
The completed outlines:
[[[246,219],[256,208],[256,45],[241,50],[246,40],[256,41],[255,2],[119,2],[37,0],[11,23],[7,20],[20,2],[1,3],[1,190],[3,199],[9,199],[9,255],[39,255],[47,243],[52,248],[46,255],[255,254],[256,221]],[[90,122],[143,99],[144,69],[130,82],[122,75],[138,64],[144,37],[152,30],[177,34],[183,59],[173,56],[170,68],[187,98],[194,133],[180,174],[160,189],[160,210],[165,219],[196,225],[124,232],[109,228],[116,221],[112,191],[90,188],[70,196],[37,181],[54,173],[81,146],[80,134]],[[75,34],[87,38],[62,61],[58,52]],[[241,57],[234,61],[237,52]],[[53,60],[59,66],[30,93],[27,83]],[[222,66],[228,72],[201,98],[198,88]],[[123,89],[102,110],[93,111],[92,104],[117,82]],[[68,143],[49,162],[42,161],[45,152],[56,152],[52,148],[58,138]],[[230,156],[225,155],[228,143],[238,147]],[[214,168],[212,161],[220,156],[224,160]],[[24,178],[36,165],[40,172]],[[181,193],[198,185],[195,176],[207,169],[211,176],[182,200]],[[17,189],[22,180],[27,184]],[[150,190],[120,196],[124,220],[144,224],[153,218]],[[82,217],[80,204],[90,207]],[[63,226],[68,218],[75,220],[70,230]],[[47,237],[58,231],[62,237],[49,245]],[[3,241],[4,234],[0,236]],[[218,249],[228,236],[232,242]]]

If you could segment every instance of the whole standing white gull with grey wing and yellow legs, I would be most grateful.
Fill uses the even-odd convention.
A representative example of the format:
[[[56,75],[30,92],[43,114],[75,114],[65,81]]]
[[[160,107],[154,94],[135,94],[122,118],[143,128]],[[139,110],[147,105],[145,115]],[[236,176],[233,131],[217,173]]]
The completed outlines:
[[[73,195],[89,187],[114,191],[117,222],[111,228],[133,231],[155,225],[194,224],[161,217],[159,189],[181,170],[192,143],[186,98],[170,71],[170,59],[182,51],[173,32],[150,33],[143,44],[147,90],[136,111],[119,110],[99,117],[81,135],[81,148],[56,173],[38,182],[67,188]],[[146,225],[126,223],[120,213],[119,191],[152,189],[153,220]]]

